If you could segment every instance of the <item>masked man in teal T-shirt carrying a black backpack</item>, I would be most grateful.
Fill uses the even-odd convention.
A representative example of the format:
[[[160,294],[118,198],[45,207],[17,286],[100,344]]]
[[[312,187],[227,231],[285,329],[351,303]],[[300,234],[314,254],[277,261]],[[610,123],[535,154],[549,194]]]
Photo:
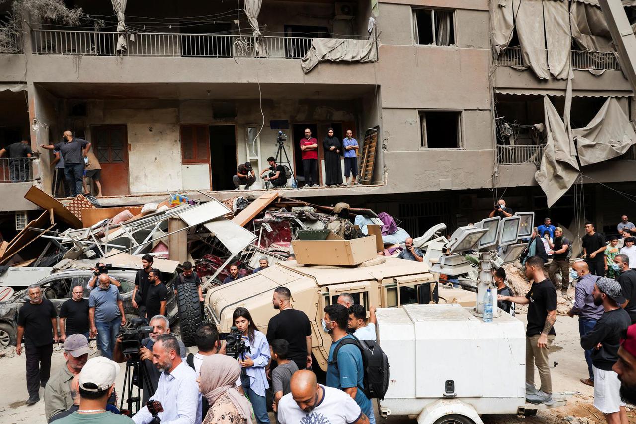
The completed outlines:
[[[363,392],[364,367],[359,348],[355,344],[345,344],[338,349],[338,357],[333,357],[336,347],[342,343],[343,339],[354,339],[353,336],[347,334],[349,310],[340,304],[334,304],[325,307],[324,313],[322,329],[331,336],[327,385],[348,393],[356,400],[363,413],[369,417],[369,423],[375,424],[371,400]]]

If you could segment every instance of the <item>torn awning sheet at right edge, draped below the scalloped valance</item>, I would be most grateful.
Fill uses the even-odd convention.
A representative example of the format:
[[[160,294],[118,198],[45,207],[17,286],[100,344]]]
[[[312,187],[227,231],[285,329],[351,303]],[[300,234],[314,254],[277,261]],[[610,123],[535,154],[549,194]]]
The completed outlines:
[[[611,97],[584,128],[572,130],[581,165],[590,165],[622,155],[636,143],[636,134],[616,99]]]

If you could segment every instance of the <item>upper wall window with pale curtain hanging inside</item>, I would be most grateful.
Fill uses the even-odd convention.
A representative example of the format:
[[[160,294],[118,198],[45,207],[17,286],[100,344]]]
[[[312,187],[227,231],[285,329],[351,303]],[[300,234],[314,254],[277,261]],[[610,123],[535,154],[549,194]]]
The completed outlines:
[[[413,39],[416,44],[452,46],[455,24],[452,10],[414,9]]]

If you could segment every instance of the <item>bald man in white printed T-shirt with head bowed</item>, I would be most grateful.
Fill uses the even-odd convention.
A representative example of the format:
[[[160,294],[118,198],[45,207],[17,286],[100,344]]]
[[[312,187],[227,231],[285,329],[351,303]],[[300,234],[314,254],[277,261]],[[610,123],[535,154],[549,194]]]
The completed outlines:
[[[289,381],[291,393],[280,398],[279,424],[329,423],[368,424],[369,418],[349,394],[316,383],[308,370],[294,372]]]

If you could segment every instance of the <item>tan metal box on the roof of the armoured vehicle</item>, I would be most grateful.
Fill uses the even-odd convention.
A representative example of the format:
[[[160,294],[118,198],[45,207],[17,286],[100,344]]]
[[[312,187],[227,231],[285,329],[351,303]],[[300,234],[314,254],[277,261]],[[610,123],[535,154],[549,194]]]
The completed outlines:
[[[377,258],[375,236],[352,240],[293,240],[301,265],[359,265]]]

